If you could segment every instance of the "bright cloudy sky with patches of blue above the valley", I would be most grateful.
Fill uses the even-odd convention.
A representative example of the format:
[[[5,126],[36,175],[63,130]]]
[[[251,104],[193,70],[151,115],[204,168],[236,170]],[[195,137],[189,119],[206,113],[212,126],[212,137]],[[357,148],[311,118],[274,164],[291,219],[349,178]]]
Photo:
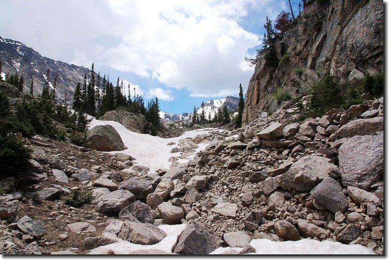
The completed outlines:
[[[0,36],[158,97],[168,113],[246,92],[266,16],[287,0],[1,0]]]

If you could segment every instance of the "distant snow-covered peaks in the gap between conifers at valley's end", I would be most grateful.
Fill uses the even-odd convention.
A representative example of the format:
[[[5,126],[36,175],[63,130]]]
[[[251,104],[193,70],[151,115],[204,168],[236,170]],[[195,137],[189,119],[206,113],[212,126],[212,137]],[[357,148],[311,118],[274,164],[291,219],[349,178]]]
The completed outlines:
[[[239,98],[228,96],[223,99],[219,100],[209,100],[204,103],[204,113],[205,118],[208,119],[209,113],[210,118],[213,119],[214,116],[217,114],[219,108],[223,108],[224,106],[227,106],[228,111],[236,111],[238,109],[238,103]],[[202,107],[198,107],[197,114],[202,114]],[[171,120],[171,121],[191,121],[193,113],[183,113],[183,114],[170,114],[163,111],[160,111],[160,117],[161,119],[165,120]]]

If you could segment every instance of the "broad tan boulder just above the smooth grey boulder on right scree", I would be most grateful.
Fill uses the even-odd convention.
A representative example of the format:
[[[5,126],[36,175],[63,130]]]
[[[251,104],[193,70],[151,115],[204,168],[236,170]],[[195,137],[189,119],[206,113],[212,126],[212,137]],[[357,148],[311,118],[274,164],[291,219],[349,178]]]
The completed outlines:
[[[277,176],[279,185],[286,189],[309,192],[325,178],[339,178],[340,171],[328,158],[306,156],[295,162],[282,175]]]

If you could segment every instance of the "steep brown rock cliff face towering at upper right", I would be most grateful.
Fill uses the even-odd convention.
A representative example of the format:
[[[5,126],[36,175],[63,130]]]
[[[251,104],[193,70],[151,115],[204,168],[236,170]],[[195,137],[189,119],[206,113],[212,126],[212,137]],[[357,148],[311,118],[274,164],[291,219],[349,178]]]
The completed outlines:
[[[330,71],[339,81],[383,71],[384,6],[382,0],[331,0],[306,6],[296,24],[276,43],[277,58],[289,56],[273,70],[263,58],[255,65],[246,94],[242,124],[263,111],[276,111],[278,87],[292,96]],[[287,58],[285,56],[285,60]]]

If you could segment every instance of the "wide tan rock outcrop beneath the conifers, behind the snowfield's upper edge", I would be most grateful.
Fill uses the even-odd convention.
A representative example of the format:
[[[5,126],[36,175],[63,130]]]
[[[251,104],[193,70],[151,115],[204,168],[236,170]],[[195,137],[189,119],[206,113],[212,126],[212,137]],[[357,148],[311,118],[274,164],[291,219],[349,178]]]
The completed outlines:
[[[125,110],[108,111],[99,120],[116,121],[136,133],[145,133],[147,128],[147,120],[143,115]]]

